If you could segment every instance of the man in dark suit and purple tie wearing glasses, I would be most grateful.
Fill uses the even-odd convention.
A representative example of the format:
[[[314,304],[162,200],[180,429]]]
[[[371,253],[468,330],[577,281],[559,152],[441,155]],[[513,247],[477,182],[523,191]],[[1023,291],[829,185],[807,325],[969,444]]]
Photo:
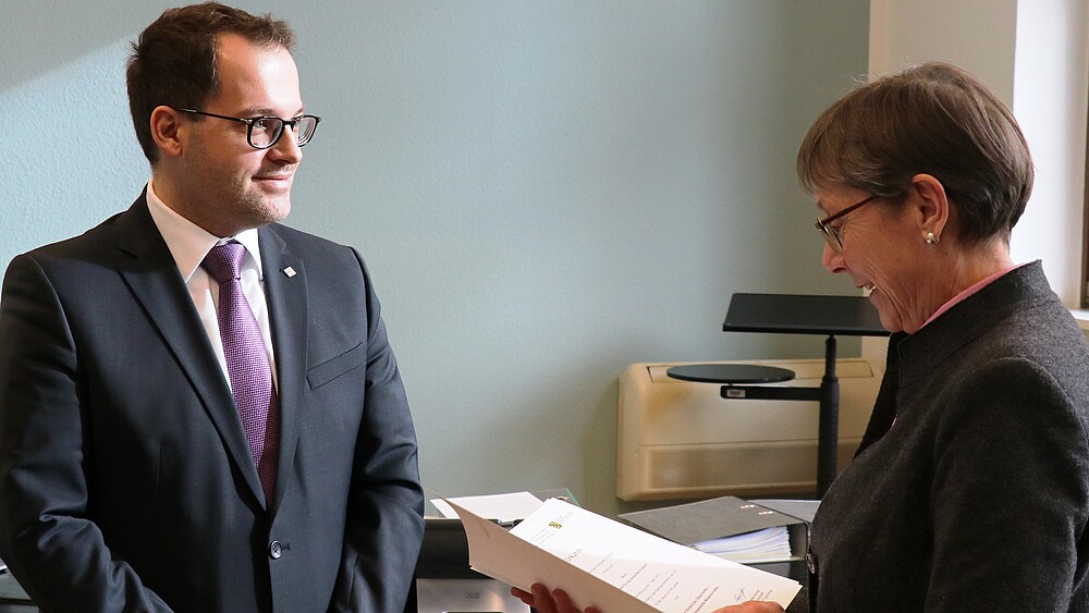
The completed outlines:
[[[318,123],[293,44],[163,13],[127,73],[148,186],[8,269],[0,557],[42,610],[404,605],[423,491],[378,299],[354,249],[277,223]]]

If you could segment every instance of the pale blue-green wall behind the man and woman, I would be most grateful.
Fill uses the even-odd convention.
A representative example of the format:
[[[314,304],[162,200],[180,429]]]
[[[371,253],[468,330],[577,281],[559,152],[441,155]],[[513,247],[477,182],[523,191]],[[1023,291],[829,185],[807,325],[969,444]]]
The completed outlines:
[[[143,187],[123,65],[168,5],[0,7],[0,266]],[[615,513],[628,364],[820,355],[721,322],[734,292],[852,291],[793,162],[866,72],[868,0],[241,5],[299,35],[323,122],[290,223],[367,257],[432,492]]]

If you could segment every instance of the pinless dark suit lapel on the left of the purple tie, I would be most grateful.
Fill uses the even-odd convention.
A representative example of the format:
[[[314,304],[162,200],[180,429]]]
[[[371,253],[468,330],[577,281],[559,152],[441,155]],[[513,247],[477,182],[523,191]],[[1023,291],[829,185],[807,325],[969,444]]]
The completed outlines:
[[[118,223],[119,246],[131,256],[119,267],[121,277],[144,306],[154,326],[162,334],[178,364],[204,403],[223,445],[238,465],[240,473],[258,500],[264,500],[257,468],[249,455],[246,434],[238,419],[231,387],[216,358],[193,298],[170,249],[162,241],[145,196],[123,213]]]

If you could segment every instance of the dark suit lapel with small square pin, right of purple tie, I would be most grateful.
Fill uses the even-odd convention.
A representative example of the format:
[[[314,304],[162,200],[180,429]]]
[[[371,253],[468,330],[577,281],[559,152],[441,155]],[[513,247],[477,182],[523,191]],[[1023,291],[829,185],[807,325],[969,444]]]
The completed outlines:
[[[298,414],[306,384],[307,291],[303,260],[295,256],[276,225],[258,230],[265,297],[276,348],[280,394],[280,458],[277,466],[277,506],[290,482],[290,470],[298,440]]]

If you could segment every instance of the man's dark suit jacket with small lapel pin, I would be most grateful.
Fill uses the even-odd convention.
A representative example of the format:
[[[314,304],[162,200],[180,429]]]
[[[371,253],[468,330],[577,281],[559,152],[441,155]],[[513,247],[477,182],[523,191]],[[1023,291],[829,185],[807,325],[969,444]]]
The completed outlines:
[[[282,225],[259,236],[281,407],[271,507],[144,197],[11,262],[0,557],[44,610],[402,611],[423,492],[367,269]]]

